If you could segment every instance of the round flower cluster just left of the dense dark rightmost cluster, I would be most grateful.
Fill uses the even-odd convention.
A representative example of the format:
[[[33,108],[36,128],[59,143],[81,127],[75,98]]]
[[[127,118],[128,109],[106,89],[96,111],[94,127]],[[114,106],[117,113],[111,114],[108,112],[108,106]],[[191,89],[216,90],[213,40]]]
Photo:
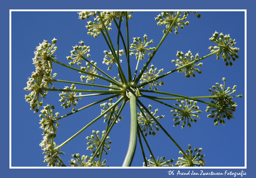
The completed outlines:
[[[193,100],[188,100],[188,99],[186,99],[185,101],[184,100],[182,101],[177,100],[177,101],[179,102],[179,104],[175,103],[174,105],[179,106],[179,108],[177,108],[175,111],[171,110],[171,113],[173,113],[173,117],[175,117],[173,121],[174,122],[178,121],[174,123],[174,126],[178,126],[180,122],[183,121],[183,125],[181,126],[181,128],[184,128],[186,125],[186,121],[188,121],[188,127],[190,128],[191,127],[190,122],[197,122],[198,120],[196,120],[195,118],[199,118],[198,113],[201,113],[201,111],[199,110],[199,107],[195,106],[197,102]]]

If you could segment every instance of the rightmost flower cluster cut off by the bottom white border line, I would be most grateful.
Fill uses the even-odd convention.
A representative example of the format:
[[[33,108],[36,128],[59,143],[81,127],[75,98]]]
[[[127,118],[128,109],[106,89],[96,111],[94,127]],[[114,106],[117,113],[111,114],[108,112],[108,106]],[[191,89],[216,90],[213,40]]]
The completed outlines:
[[[181,166],[181,167],[201,167],[204,166],[204,162],[205,160],[204,155],[201,155],[200,152],[202,151],[202,149],[194,149],[194,154],[193,154],[193,150],[191,150],[191,145],[188,145],[189,150],[186,150],[186,156],[189,157],[189,159],[187,157],[185,157],[183,155],[183,157],[179,157],[179,161],[177,161],[177,163],[175,164],[175,166]],[[198,151],[196,153],[196,151]],[[179,151],[179,154],[183,154],[181,151]]]

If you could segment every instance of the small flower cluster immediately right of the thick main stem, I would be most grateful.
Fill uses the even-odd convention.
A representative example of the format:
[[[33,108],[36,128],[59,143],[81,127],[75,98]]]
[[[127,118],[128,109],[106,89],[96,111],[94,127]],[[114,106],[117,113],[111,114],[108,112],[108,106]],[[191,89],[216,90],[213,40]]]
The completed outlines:
[[[153,116],[155,116],[155,114],[158,112],[158,109],[156,109],[155,112],[152,112],[151,108],[152,106],[149,105],[149,111]],[[159,131],[157,123],[153,120],[153,118],[147,112],[145,112],[143,107],[140,108],[140,111],[141,111],[140,113],[137,113],[137,116],[138,116],[137,119],[138,119],[138,123],[141,130],[145,132],[144,136],[146,137],[147,133],[149,133],[149,135],[156,135],[156,131]],[[155,116],[155,118],[156,119],[164,118],[164,115]],[[155,128],[156,131],[154,131],[153,128]]]

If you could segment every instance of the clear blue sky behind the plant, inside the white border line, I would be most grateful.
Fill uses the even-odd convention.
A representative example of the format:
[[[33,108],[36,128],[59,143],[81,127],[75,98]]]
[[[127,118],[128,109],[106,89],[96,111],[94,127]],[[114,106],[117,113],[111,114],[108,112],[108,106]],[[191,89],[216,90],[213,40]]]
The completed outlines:
[[[148,41],[154,40],[151,47],[156,47],[163,36],[162,31],[164,29],[164,26],[157,26],[154,19],[159,13],[133,13],[133,18],[129,21],[130,41],[132,37],[142,38],[144,34],[147,34]],[[201,14],[200,19],[191,13],[187,18],[187,21],[190,22],[189,26],[179,29],[179,34],[173,32],[168,35],[163,46],[152,60],[155,67],[164,68],[164,72],[173,70],[175,65],[171,63],[171,60],[176,60],[176,51],[186,53],[190,50],[193,55],[199,53],[199,57],[208,55],[210,52],[208,47],[215,45],[209,41],[215,31],[230,34],[230,37],[235,39],[236,46],[240,48],[238,53],[240,58],[234,62],[234,67],[226,67],[225,63],[222,60],[217,61],[215,56],[206,58],[206,60],[201,61],[203,62],[203,67],[200,68],[203,72],[201,75],[196,73],[195,78],[185,78],[184,73],[172,73],[163,78],[165,85],[159,87],[159,91],[185,96],[211,95],[208,88],[211,88],[216,82],[223,83],[221,78],[225,77],[226,86],[237,85],[237,94],[244,96],[244,12],[198,13]],[[229,19],[228,23],[226,19]],[[92,21],[92,18],[88,20]],[[87,35],[86,21],[78,19],[77,12],[12,12],[12,166],[46,166],[43,163],[42,150],[39,146],[42,140],[42,130],[38,123],[40,118],[38,113],[29,110],[29,104],[24,100],[24,95],[28,95],[28,92],[23,90],[27,78],[31,76],[32,71],[35,71],[32,58],[38,43],[42,43],[43,39],[51,42],[55,37],[58,47],[57,60],[68,64],[69,61],[66,60],[66,56],[70,55],[72,46],[78,45],[78,42],[82,40],[86,46],[91,47],[90,60],[97,62],[97,66],[107,71],[107,66],[102,64],[102,60],[104,58],[103,51],[108,50],[108,48],[102,36],[93,38]],[[124,24],[122,25],[124,27]],[[114,26],[112,28],[110,34],[114,35],[115,39],[116,30]],[[124,57],[123,61],[125,61]],[[134,69],[136,60],[131,57],[131,61],[131,68]],[[143,62],[146,62],[146,59],[141,61],[140,68]],[[124,62],[122,66],[126,67]],[[110,71],[111,76],[117,76],[115,70],[116,68],[113,68]],[[55,72],[58,73],[56,79],[80,81],[79,73],[56,64],[53,65],[53,73]],[[96,80],[95,83],[100,83],[100,80]],[[64,85],[62,83],[55,84],[56,88],[63,88],[64,86],[70,85],[66,83]],[[82,86],[80,89],[85,89],[85,87]],[[92,88],[92,90],[96,89]],[[58,93],[60,92],[49,92],[46,100],[43,101],[43,106],[46,104],[55,105],[56,111],[60,112],[60,115],[69,113],[70,108],[64,110],[60,106]],[[92,97],[78,101],[76,108],[97,101],[97,99],[93,99]],[[226,120],[225,126],[214,126],[213,119],[206,117],[208,115],[205,112],[206,105],[199,103],[200,110],[203,112],[199,115],[198,122],[192,123],[190,129],[185,127],[183,130],[181,130],[181,125],[173,127],[174,122],[170,108],[146,99],[141,100],[145,106],[150,103],[152,109],[159,108],[157,114],[165,115],[164,118],[159,119],[159,122],[184,150],[187,149],[188,144],[193,148],[203,148],[202,154],[205,154],[206,166],[244,166],[244,99],[244,97],[234,98],[238,105],[237,111],[234,112],[235,120]],[[207,99],[206,101],[210,100]],[[168,103],[174,104],[173,101],[168,101]],[[55,142],[60,145],[93,118],[100,115],[100,109],[100,106],[95,106],[60,120]],[[109,166],[122,165],[129,143],[129,105],[126,105],[121,116],[124,117],[124,120],[115,125],[109,135],[112,141],[111,151],[104,157]],[[92,130],[102,131],[105,127],[106,125],[101,119],[63,146],[61,151],[66,154],[61,158],[65,164],[68,165],[71,154],[80,153],[90,156],[90,151],[86,150],[87,139],[85,137],[90,136]],[[21,132],[22,134],[20,134]],[[157,132],[155,136],[147,136],[147,139],[149,139],[149,144],[156,157],[165,156],[166,159],[174,159],[175,162],[178,160],[180,156],[178,148],[163,131]],[[26,146],[21,146],[24,143]],[[21,152],[22,154],[20,154]],[[146,151],[147,159],[149,159],[149,155],[149,151]],[[132,166],[142,166],[142,162],[144,161],[138,143]]]

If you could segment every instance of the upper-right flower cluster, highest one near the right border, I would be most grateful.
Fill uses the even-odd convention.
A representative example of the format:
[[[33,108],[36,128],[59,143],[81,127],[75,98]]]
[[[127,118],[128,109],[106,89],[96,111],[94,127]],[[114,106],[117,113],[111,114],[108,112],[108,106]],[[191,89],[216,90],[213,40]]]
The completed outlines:
[[[224,36],[223,33],[219,34],[215,31],[213,37],[209,38],[209,40],[213,41],[214,43],[216,43],[216,45],[218,45],[214,47],[209,47],[211,53],[219,50],[218,53],[216,53],[217,60],[219,60],[221,56],[226,66],[233,66],[233,63],[230,61],[231,58],[233,61],[236,61],[239,58],[239,56],[237,55],[237,53],[239,52],[239,48],[233,47],[235,45],[235,39],[230,38],[229,34],[226,34]]]

